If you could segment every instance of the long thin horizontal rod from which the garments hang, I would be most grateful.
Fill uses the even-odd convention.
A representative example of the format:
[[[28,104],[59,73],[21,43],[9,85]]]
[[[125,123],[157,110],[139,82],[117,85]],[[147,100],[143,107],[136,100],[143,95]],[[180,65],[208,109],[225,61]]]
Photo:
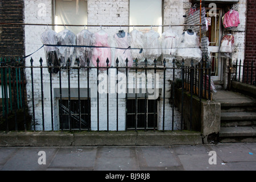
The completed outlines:
[[[204,26],[205,24],[169,24],[169,25],[96,25],[96,24],[42,24],[42,23],[5,23],[5,25],[20,26],[67,26],[67,27],[179,27],[179,26]]]

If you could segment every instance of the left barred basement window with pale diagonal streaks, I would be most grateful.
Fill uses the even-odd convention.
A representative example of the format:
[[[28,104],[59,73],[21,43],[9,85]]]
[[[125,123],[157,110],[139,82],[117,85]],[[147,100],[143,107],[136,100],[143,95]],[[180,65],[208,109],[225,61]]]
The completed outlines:
[[[90,102],[90,100],[89,100]],[[69,121],[69,107],[68,107],[68,99],[61,100],[62,107],[60,107],[60,100],[59,100],[59,117],[61,119],[60,123],[63,123],[63,129],[69,130],[71,129],[81,129],[85,130],[88,129],[89,122],[90,122],[90,109],[88,109],[88,100],[87,99],[81,99],[80,105],[81,105],[81,117],[79,117],[79,100],[72,99],[70,102],[70,113],[71,118]],[[89,103],[90,107],[90,103]],[[89,114],[89,115],[88,115]],[[81,123],[80,123],[81,118]],[[61,124],[60,124],[61,125]]]

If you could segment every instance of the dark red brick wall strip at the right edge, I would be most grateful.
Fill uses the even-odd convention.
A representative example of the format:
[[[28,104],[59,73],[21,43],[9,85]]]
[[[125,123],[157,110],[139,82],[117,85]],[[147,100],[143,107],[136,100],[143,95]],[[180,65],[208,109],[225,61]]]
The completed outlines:
[[[255,67],[256,67],[256,26],[255,26],[255,17],[256,17],[256,3],[254,0],[247,0],[247,22],[246,22],[246,47],[245,47],[245,62],[244,65],[249,64],[251,67],[251,63],[253,62],[253,80],[256,80],[255,76]],[[244,75],[247,75],[247,68],[245,69]],[[248,70],[248,82],[251,82],[251,68]],[[244,80],[246,82],[246,79]]]

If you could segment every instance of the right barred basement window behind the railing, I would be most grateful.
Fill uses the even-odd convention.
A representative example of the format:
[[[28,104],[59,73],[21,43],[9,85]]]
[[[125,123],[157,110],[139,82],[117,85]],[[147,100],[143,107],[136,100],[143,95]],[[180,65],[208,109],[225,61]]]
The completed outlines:
[[[145,129],[145,117],[146,117],[146,129],[157,129],[158,123],[158,101],[146,100],[146,114],[145,114],[145,100],[144,98],[137,99],[137,105],[135,105],[135,99],[127,100],[127,129],[135,129],[135,123],[137,119],[137,129]],[[137,106],[137,109],[135,109]],[[135,112],[137,110],[137,113]],[[154,117],[155,115],[155,117]]]

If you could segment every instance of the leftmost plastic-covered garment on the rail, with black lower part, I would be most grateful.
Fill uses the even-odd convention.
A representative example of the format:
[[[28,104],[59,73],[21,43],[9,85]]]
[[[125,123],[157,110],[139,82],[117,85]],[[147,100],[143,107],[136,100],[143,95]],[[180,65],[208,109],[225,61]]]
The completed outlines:
[[[43,44],[48,45],[57,45],[57,33],[51,29],[46,30],[41,35],[41,41]],[[46,62],[47,66],[59,66],[58,62],[58,49],[54,46],[44,46],[44,51],[46,53]],[[49,68],[49,73],[59,72],[59,68]]]

